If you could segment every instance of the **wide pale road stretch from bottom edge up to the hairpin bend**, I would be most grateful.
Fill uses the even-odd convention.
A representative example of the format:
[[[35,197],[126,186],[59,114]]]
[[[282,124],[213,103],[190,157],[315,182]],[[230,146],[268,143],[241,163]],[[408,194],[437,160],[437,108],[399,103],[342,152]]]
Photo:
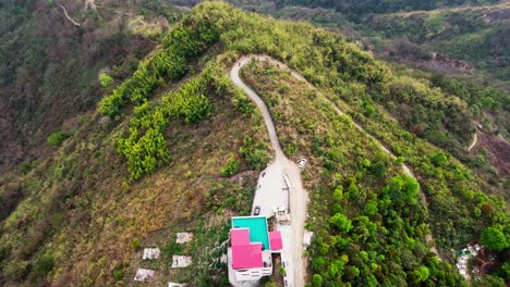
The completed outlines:
[[[286,158],[281,150],[278,136],[276,134],[275,124],[272,123],[271,115],[264,101],[258,95],[246,86],[239,76],[239,71],[243,65],[248,63],[252,59],[264,60],[267,58],[258,55],[242,57],[230,71],[230,78],[233,84],[240,87],[255,104],[260,109],[264,122],[266,123],[267,130],[269,133],[269,139],[271,141],[272,149],[275,150],[276,157],[275,162],[279,169],[282,170],[283,174],[289,180],[290,188],[290,208],[291,208],[291,261],[287,269],[289,277],[289,286],[304,286],[304,276],[306,274],[305,260],[303,258],[303,238],[304,238],[304,225],[306,221],[306,202],[308,199],[308,192],[303,188],[301,182],[301,172],[298,165]]]

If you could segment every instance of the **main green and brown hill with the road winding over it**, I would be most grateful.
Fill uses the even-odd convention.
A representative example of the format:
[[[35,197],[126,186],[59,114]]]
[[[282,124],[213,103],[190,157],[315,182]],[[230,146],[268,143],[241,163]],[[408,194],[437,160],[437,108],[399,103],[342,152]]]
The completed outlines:
[[[98,9],[107,7],[116,8]],[[174,10],[146,18],[166,11]],[[510,225],[500,186],[417,132],[425,123],[423,133],[445,133],[448,145],[469,141],[462,97],[418,73],[403,75],[338,34],[223,2],[201,3],[156,36],[112,35],[123,33],[150,45],[114,53],[119,62],[83,65],[90,78],[73,87],[95,97],[80,109],[41,93],[57,112],[40,107],[40,117],[25,121],[45,118],[46,130],[63,135],[35,137],[31,145],[47,151],[34,153],[37,161],[20,155],[31,159],[23,172],[5,165],[14,167],[0,178],[0,285],[137,286],[137,267],[155,270],[156,286],[228,285],[221,257],[230,217],[251,213],[258,173],[275,158],[262,112],[228,76],[246,54],[274,59],[243,65],[242,80],[267,104],[284,155],[308,159],[301,177],[314,236],[296,254],[308,262],[300,276],[314,286],[466,286],[454,250],[479,240],[497,261],[472,283],[505,285]],[[88,48],[75,45],[80,55]],[[119,64],[129,66],[120,75]],[[194,239],[177,245],[178,232]],[[160,260],[142,260],[144,247],[160,247]],[[171,269],[174,254],[191,255],[193,265]]]

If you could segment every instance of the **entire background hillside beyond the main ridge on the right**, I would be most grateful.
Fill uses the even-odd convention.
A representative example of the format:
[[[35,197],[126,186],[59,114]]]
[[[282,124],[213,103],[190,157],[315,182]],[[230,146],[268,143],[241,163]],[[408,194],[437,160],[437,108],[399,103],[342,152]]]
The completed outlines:
[[[379,101],[409,132],[448,150],[506,195],[509,165],[496,159],[510,152],[507,2],[229,2],[340,33],[387,61],[402,78],[411,76],[418,79],[422,88],[440,90],[445,97],[418,92],[408,95],[403,102],[381,98]],[[405,92],[403,86],[408,84],[400,80],[400,90],[392,91]],[[438,109],[438,102],[448,107]],[[466,152],[476,133],[485,134],[487,141]],[[499,145],[501,138],[503,145]]]

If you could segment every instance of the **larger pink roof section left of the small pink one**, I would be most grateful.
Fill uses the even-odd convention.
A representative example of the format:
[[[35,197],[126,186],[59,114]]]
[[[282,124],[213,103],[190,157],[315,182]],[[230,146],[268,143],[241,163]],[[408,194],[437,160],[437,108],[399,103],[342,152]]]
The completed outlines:
[[[234,270],[264,267],[262,244],[250,242],[248,228],[230,229],[230,240],[232,245],[232,267]]]

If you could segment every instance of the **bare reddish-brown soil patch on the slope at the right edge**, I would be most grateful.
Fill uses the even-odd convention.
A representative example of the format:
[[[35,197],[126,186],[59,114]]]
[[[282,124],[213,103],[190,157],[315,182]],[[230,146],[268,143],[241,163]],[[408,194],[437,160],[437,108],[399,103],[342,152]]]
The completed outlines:
[[[510,176],[510,144],[500,137],[478,133],[478,148],[488,150],[488,161],[503,177]]]

